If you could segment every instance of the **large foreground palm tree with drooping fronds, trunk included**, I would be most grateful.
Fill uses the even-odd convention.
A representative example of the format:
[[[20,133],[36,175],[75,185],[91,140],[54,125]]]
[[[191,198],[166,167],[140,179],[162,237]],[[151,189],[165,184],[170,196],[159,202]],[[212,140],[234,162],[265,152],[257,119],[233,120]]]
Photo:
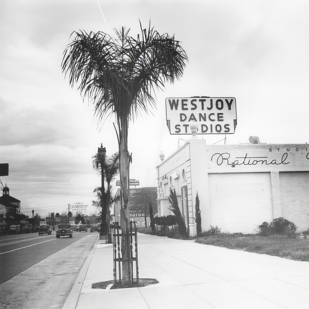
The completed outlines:
[[[75,35],[63,54],[62,70],[69,83],[84,99],[94,104],[98,121],[114,113],[117,122],[121,218],[124,242],[123,258],[131,258],[129,248],[129,164],[128,126],[142,111],[155,107],[155,89],[163,89],[165,82],[179,79],[188,60],[174,36],[160,35],[154,28],[143,29],[137,39],[129,36],[130,29],[115,30],[113,38],[104,32],[73,32]],[[115,125],[114,125],[115,126]],[[116,127],[115,127],[116,129]],[[131,282],[129,261],[123,263],[124,281]]]

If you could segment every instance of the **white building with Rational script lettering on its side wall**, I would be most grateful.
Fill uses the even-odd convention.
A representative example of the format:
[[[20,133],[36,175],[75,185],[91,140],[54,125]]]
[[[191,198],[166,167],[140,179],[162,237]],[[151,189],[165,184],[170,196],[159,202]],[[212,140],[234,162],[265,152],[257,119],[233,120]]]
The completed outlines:
[[[309,145],[206,145],[191,139],[157,166],[158,215],[172,214],[175,188],[188,234],[196,234],[198,192],[202,230],[255,233],[262,222],[284,217],[309,228]]]

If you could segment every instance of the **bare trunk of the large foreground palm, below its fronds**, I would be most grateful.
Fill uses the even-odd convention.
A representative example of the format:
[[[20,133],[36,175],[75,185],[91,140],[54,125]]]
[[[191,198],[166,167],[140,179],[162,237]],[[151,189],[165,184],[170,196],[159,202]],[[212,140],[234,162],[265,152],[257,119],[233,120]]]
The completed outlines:
[[[121,188],[121,230],[122,230],[122,279],[128,284],[132,282],[132,267],[130,263],[130,235],[129,235],[129,154],[128,154],[128,121],[121,122],[119,144],[119,170],[120,170],[120,188]]]

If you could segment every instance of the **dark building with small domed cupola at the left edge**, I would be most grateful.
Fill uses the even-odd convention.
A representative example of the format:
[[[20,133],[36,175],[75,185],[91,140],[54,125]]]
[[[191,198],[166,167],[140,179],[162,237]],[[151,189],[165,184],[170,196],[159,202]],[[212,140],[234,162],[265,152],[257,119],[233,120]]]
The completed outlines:
[[[20,200],[10,196],[10,189],[5,185],[0,197],[0,222],[6,224],[19,224],[16,215],[20,212]]]

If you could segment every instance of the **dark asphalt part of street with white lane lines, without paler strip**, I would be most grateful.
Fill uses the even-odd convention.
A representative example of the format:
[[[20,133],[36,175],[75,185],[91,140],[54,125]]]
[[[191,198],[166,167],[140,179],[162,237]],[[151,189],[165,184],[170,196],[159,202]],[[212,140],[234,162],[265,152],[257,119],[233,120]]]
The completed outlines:
[[[0,237],[0,284],[46,257],[89,235],[89,232],[73,232],[73,237],[56,238],[38,233],[7,235]]]

